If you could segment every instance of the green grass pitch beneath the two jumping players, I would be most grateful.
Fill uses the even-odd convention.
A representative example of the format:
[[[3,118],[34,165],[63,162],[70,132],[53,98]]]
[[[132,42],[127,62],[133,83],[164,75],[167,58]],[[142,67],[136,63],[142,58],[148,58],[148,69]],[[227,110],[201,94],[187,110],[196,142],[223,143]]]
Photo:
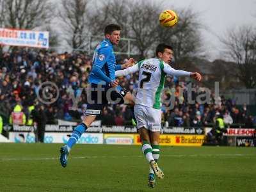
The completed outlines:
[[[76,145],[67,168],[58,144],[1,144],[0,191],[255,191],[255,148],[161,147],[164,179],[147,187],[139,146]]]

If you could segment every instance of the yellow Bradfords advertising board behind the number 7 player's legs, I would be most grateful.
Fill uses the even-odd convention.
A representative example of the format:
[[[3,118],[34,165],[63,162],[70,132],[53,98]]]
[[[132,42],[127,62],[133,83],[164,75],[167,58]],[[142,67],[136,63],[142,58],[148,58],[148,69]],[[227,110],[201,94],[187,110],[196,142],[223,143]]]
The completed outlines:
[[[159,145],[170,146],[202,146],[204,143],[204,135],[172,135],[161,134],[159,138]],[[134,145],[141,145],[139,134],[134,134]]]

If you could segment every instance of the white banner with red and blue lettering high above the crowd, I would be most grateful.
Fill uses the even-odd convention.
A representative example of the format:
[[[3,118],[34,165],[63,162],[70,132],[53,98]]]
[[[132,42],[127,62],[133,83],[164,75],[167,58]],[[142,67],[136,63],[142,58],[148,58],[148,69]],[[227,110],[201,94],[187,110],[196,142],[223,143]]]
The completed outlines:
[[[0,44],[49,48],[49,32],[0,28]]]

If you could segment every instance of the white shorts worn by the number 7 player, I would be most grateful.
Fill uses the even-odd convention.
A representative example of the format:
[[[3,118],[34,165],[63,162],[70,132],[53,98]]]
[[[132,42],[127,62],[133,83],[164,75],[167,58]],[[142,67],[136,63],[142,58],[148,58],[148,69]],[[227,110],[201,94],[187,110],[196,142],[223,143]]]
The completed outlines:
[[[161,109],[149,108],[135,104],[134,115],[137,120],[137,127],[145,127],[149,131],[156,132],[161,129]]]

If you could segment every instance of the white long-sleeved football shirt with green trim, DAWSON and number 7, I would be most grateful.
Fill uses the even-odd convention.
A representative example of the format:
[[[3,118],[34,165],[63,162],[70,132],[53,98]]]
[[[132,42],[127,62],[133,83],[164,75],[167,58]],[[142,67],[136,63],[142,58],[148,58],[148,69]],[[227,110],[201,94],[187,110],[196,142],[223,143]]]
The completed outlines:
[[[175,70],[163,61],[152,58],[143,60],[124,70],[117,70],[116,77],[139,71],[138,92],[135,104],[161,109],[161,96],[166,74],[172,76],[190,76],[190,72]]]

